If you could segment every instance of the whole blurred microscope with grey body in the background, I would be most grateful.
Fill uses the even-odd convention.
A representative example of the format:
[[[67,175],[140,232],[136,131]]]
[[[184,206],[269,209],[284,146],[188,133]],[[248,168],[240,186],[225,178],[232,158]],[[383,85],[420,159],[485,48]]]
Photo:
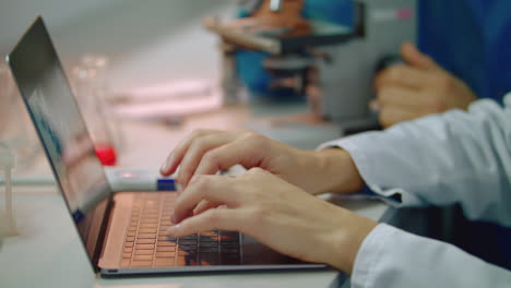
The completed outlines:
[[[287,7],[296,10],[304,1],[248,2],[253,15],[263,12],[264,17],[242,20],[241,25],[236,25],[239,21],[234,21],[235,25],[211,19],[204,22],[222,37],[223,47],[228,47],[223,50],[225,98],[236,98],[233,86],[239,81],[234,51],[251,49],[268,53],[262,65],[271,75],[269,87],[305,95],[318,118],[355,130],[377,122],[376,112],[369,109],[375,98],[373,79],[379,70],[400,61],[402,43],[415,41],[416,0],[354,0],[352,27],[304,20],[297,12],[296,20],[281,21],[284,27],[266,29],[261,26],[288,19],[288,11],[282,11]],[[293,31],[286,23],[299,23],[299,28]]]

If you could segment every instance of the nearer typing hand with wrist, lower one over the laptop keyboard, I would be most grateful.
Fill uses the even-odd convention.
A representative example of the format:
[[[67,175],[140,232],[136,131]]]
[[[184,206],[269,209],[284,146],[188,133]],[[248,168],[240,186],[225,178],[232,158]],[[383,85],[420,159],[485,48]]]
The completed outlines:
[[[203,202],[219,208],[193,215]],[[317,199],[259,168],[239,177],[195,176],[178,196],[168,233],[236,230],[281,253],[350,273],[365,237],[377,225]]]

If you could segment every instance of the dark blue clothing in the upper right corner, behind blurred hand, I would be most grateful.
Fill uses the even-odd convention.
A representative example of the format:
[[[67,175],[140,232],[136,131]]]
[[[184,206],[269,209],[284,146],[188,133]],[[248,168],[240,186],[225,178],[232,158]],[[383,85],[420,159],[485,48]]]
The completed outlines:
[[[511,91],[511,1],[421,0],[418,46],[480,98]]]

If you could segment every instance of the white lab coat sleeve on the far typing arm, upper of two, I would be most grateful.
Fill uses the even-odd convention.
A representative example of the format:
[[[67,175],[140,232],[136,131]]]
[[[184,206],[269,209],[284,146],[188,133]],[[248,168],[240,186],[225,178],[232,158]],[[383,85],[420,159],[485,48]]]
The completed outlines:
[[[395,206],[460,203],[470,219],[511,226],[511,93],[322,144],[346,149],[366,184]]]

